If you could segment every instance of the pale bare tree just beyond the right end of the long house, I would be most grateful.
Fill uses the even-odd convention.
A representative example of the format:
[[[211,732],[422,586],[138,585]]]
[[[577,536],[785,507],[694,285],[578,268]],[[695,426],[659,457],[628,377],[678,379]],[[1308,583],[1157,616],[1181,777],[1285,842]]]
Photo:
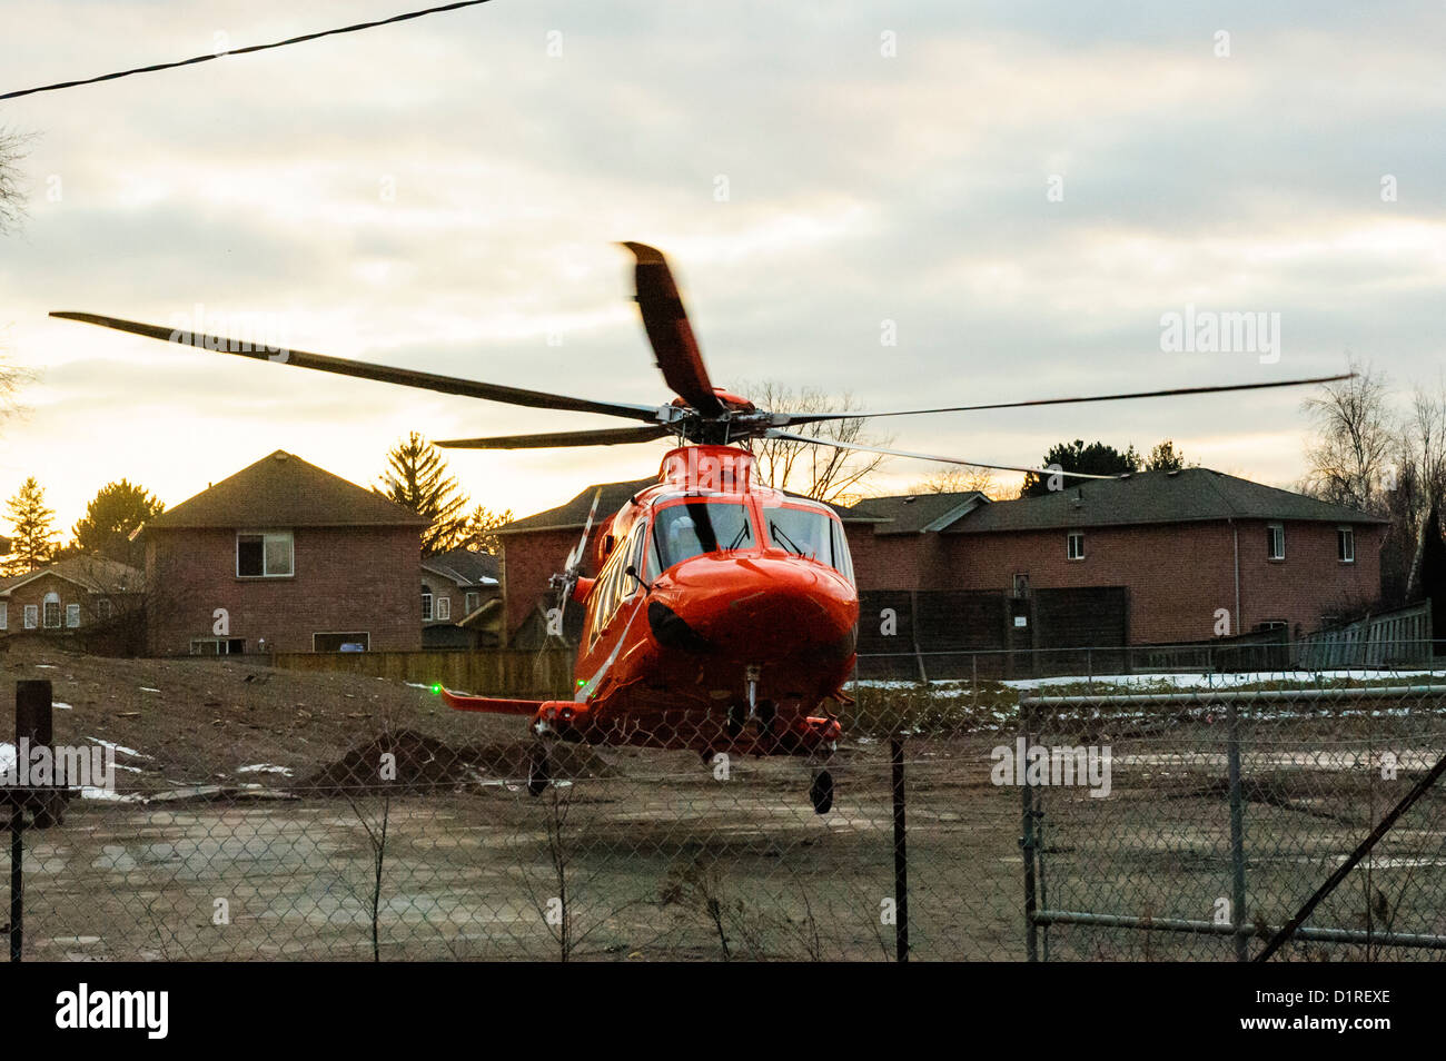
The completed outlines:
[[[1326,383],[1304,409],[1316,428],[1306,447],[1309,493],[1335,504],[1379,512],[1381,489],[1397,448],[1387,380],[1368,361],[1346,357],[1348,380]]]

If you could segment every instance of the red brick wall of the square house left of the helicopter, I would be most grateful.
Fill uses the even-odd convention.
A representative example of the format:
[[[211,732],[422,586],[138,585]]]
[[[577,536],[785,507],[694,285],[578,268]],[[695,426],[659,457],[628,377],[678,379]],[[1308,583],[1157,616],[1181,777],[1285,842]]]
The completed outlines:
[[[150,650],[184,655],[213,637],[215,609],[246,650],[311,652],[312,633],[362,632],[373,650],[421,649],[422,600],[416,528],[298,528],[295,575],[237,578],[236,532],[153,530],[146,548],[153,587]]]

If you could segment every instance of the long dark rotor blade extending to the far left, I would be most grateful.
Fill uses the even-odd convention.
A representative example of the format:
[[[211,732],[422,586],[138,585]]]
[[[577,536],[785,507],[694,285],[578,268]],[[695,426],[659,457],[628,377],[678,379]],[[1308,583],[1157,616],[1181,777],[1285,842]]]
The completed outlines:
[[[435,390],[442,395],[461,395],[464,398],[483,398],[489,402],[505,402],[508,405],[525,405],[534,409],[565,409],[571,412],[599,412],[604,416],[626,416],[636,421],[656,421],[658,406],[623,405],[620,402],[594,402],[589,398],[571,398],[567,395],[548,395],[541,390],[522,390],[521,387],[505,387],[497,383],[479,383],[476,380],[457,379],[454,376],[438,376],[429,371],[415,371],[412,369],[398,369],[389,364],[372,364],[369,361],[353,361],[348,357],[328,357],[325,354],[308,354],[305,350],[268,350],[253,343],[220,338],[217,335],[202,335],[200,332],[162,328],[155,324],[139,324],[137,321],[121,321],[116,317],[100,317],[97,314],[52,312],[67,321],[81,321],[97,324],[101,328],[129,331],[132,335],[158,338],[163,343],[192,345],[200,350],[213,350],[223,354],[237,354],[257,361],[279,361],[294,364],[298,369],[315,369],[318,371],[333,371],[338,376],[354,376],[357,379],[377,380],[379,383],[396,383],[403,387],[418,387],[421,390]]]

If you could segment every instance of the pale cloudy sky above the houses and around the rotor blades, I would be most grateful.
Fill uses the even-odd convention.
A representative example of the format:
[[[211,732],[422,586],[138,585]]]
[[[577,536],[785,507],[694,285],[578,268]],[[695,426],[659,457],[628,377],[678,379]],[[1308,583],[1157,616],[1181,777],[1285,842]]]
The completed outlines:
[[[0,93],[421,0],[12,0]],[[0,237],[0,428],[67,529],[106,481],[175,504],[289,450],[357,483],[432,438],[617,426],[228,358],[46,317],[253,322],[286,345],[625,402],[665,392],[616,240],[672,259],[714,382],[872,409],[1442,371],[1440,3],[495,0],[0,103],[33,133]],[[726,191],[726,195],[723,194]],[[1161,318],[1278,314],[1164,350]],[[885,321],[897,344],[882,343]],[[549,344],[549,334],[560,344]],[[1288,484],[1301,393],[881,422],[1034,463],[1082,437]],[[662,445],[451,458],[519,513]],[[878,490],[931,465],[894,460]]]

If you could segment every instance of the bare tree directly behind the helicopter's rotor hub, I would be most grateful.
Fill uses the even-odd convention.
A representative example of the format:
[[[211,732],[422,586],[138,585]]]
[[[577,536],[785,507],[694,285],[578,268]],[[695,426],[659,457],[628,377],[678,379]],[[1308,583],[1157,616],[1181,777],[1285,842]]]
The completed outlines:
[[[860,412],[853,395],[829,395],[816,387],[795,392],[774,380],[740,385],[739,393],[750,395],[763,409],[772,412],[820,413]],[[868,432],[868,421],[849,418],[804,424],[794,434],[821,438],[850,445],[886,447],[894,439],[873,437]],[[830,445],[795,442],[787,438],[752,438],[743,445],[753,454],[756,474],[761,481],[778,490],[817,497],[821,502],[847,503],[856,500],[865,478],[878,471],[888,460],[884,454],[836,450]]]

